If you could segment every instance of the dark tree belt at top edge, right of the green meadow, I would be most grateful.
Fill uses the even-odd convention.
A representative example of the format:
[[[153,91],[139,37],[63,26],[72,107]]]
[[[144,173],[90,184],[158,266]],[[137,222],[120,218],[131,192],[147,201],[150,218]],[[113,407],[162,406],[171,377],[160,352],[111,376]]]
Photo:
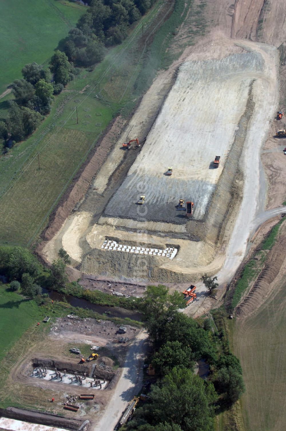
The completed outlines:
[[[105,47],[120,44],[128,27],[140,19],[155,0],[92,0],[65,41],[65,53],[77,66],[103,59]]]

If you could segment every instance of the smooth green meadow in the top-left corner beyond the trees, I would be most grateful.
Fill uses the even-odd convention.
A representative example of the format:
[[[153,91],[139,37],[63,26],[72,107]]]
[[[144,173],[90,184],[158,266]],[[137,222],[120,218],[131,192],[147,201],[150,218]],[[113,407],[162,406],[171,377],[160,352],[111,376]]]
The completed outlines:
[[[0,94],[22,78],[25,64],[48,62],[84,12],[85,6],[66,0],[1,1]]]

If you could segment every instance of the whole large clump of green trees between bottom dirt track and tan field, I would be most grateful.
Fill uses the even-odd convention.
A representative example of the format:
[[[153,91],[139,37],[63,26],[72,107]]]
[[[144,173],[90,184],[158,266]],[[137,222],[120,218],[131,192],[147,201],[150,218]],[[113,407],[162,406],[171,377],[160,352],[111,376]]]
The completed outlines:
[[[209,320],[199,325],[178,312],[179,306],[180,294],[169,295],[164,286],[147,288],[141,311],[158,380],[126,430],[210,431],[218,406],[237,401],[244,390],[240,362],[217,348]],[[195,361],[201,358],[210,366],[207,381],[194,374]]]

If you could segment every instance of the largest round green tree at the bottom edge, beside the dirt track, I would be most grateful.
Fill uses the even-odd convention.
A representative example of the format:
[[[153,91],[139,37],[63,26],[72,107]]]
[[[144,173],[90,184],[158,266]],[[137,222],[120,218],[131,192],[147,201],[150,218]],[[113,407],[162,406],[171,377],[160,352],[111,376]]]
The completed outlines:
[[[145,417],[151,425],[167,422],[180,425],[184,431],[212,430],[215,389],[190,369],[172,369],[160,384],[152,387],[150,400]]]

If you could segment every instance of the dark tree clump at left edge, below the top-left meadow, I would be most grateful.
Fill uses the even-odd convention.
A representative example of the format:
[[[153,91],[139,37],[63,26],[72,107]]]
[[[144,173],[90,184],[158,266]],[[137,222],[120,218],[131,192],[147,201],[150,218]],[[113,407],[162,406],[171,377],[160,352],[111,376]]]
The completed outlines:
[[[37,63],[23,67],[23,78],[11,84],[15,100],[9,101],[8,116],[0,121],[0,155],[33,133],[50,112],[53,95],[73,79],[74,71],[65,53],[58,50],[48,69]]]

